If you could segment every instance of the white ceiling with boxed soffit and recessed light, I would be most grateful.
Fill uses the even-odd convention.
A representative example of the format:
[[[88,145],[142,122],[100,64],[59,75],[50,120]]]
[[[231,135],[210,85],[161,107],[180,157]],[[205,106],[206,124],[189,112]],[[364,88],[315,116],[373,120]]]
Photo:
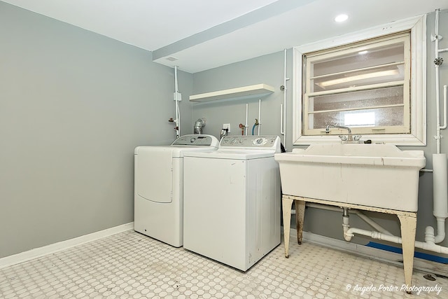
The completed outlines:
[[[150,50],[155,62],[190,73],[448,8],[448,0],[2,1]],[[336,23],[339,13],[349,20]]]

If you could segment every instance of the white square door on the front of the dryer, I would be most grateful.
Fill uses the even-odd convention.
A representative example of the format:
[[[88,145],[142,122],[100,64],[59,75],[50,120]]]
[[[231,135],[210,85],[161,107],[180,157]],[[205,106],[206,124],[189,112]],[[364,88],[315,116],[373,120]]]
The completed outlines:
[[[137,195],[153,202],[172,202],[172,148],[139,148],[135,155]]]

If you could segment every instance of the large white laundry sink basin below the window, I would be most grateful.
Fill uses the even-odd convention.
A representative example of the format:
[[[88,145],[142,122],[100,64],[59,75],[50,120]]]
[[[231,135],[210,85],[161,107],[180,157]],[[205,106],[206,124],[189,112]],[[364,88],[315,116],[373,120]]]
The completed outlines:
[[[274,158],[283,194],[417,211],[423,151],[391,144],[311,144]]]

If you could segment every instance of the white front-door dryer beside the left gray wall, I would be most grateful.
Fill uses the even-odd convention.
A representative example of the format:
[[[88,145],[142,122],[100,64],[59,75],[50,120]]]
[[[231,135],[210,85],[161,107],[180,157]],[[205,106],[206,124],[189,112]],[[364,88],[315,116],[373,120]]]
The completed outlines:
[[[211,135],[184,135],[170,146],[134,151],[134,230],[175,247],[183,244],[183,155],[216,151]]]

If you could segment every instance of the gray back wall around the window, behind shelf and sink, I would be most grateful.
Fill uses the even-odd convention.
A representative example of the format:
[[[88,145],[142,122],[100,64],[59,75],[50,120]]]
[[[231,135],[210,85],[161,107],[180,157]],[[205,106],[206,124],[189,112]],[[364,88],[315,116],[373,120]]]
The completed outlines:
[[[434,34],[435,13],[429,13],[427,18],[427,146],[419,147],[402,147],[406,149],[423,150],[426,155],[426,168],[432,167],[432,153],[435,153],[435,74],[434,74],[434,43],[430,41],[430,34]],[[439,34],[448,36],[448,32],[444,29],[448,28],[448,11],[440,12]],[[300,46],[300,45],[297,45]],[[440,48],[448,48],[448,39],[440,41]],[[441,54],[441,57],[446,54]],[[278,134],[280,135],[280,104],[283,102],[283,92],[279,89],[283,85],[283,52],[274,53],[257,57],[252,60],[246,60],[225,67],[219,67],[200,73],[193,74],[193,93],[200,94],[203,92],[211,92],[215,90],[223,90],[228,88],[237,88],[244,85],[252,85],[257,83],[265,83],[272,85],[275,92],[268,97],[262,98],[262,134]],[[448,57],[445,58],[445,64],[440,67],[441,85],[448,84]],[[292,51],[287,52],[288,74],[292,78]],[[292,149],[292,81],[288,81],[288,124],[287,124],[287,149]],[[442,95],[442,92],[441,92]],[[193,120],[197,118],[207,118],[207,126],[204,132],[214,134],[219,137],[219,132],[223,123],[232,124],[232,134],[240,134],[238,130],[239,123],[244,123],[246,118],[246,103],[249,103],[249,125],[253,124],[254,118],[258,116],[258,101],[236,100],[228,102],[211,102],[208,104],[193,104]],[[444,135],[448,133],[442,132]],[[442,153],[448,152],[448,140],[442,139]],[[421,174],[419,183],[419,213],[417,219],[416,239],[424,241],[424,231],[426,226],[436,227],[435,218],[433,217],[433,190],[432,190],[432,174],[425,172]],[[398,218],[393,215],[366,213],[375,221],[380,223],[395,235],[400,235],[400,223]],[[293,223],[294,220],[293,220]],[[293,224],[295,225],[295,224]],[[357,216],[351,217],[351,225],[358,228],[370,229]],[[448,231],[448,223],[447,223]],[[294,227],[294,226],[293,226]],[[318,235],[324,235],[335,239],[343,239],[342,235],[342,214],[333,211],[323,211],[320,209],[307,209],[305,214],[304,230],[314,232]],[[352,242],[366,244],[372,239],[364,237],[354,237]],[[377,240],[372,240],[378,242]],[[448,246],[448,239],[441,243]],[[396,245],[395,245],[396,246]],[[421,251],[420,249],[418,249]],[[430,254],[436,254],[428,252]]]

